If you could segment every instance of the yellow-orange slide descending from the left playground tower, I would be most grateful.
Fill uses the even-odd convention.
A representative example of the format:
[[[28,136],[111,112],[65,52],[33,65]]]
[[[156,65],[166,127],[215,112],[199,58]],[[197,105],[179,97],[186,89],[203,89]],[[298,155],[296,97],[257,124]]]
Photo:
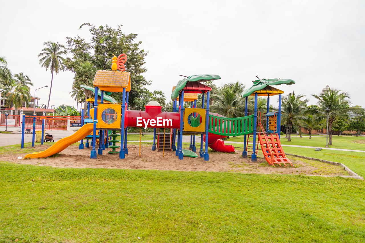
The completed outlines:
[[[68,146],[70,146],[71,144],[76,143],[77,141],[80,141],[81,139],[85,138],[85,136],[89,135],[89,133],[93,131],[93,128],[94,128],[93,123],[85,124],[77,132],[75,132],[71,136],[58,140],[55,144],[47,148],[45,151],[27,154],[23,159],[45,158],[57,154],[62,150],[64,150],[65,148],[67,148]]]

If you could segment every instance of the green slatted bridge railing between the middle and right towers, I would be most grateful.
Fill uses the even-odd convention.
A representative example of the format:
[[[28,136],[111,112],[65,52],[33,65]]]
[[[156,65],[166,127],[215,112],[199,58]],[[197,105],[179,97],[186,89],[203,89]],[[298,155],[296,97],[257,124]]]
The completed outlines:
[[[253,132],[253,115],[237,118],[209,115],[209,132],[226,136],[250,134]]]

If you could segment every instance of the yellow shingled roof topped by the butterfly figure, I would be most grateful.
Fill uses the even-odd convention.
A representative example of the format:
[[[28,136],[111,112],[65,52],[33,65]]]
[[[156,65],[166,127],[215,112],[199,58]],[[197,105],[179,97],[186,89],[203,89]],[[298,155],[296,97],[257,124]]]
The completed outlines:
[[[122,92],[131,90],[131,77],[129,72],[120,71],[96,71],[93,85],[99,87],[100,90],[111,92]]]

